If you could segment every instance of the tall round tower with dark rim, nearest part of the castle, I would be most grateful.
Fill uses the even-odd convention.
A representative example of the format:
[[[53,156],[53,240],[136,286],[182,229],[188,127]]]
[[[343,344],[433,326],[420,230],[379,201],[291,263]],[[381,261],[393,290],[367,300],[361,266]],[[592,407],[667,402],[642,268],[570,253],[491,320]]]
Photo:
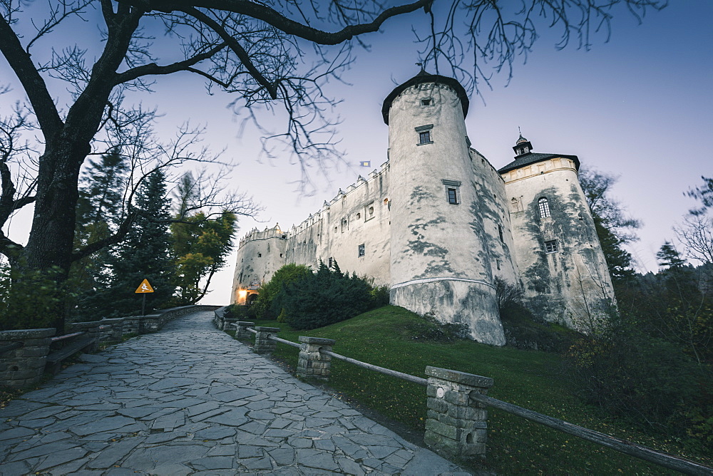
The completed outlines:
[[[391,91],[381,113],[389,125],[391,304],[504,345],[468,152],[466,90],[422,69]]]

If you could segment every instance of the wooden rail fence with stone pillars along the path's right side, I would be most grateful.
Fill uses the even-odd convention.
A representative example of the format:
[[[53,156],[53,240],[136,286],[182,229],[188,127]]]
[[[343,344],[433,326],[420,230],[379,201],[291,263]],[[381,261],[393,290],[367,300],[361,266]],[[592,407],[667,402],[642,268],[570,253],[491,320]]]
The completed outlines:
[[[701,465],[697,462],[687,460],[682,457],[670,455],[664,452],[659,452],[656,450],[652,450],[649,447],[645,447],[643,445],[637,445],[636,443],[632,443],[630,441],[626,440],[620,440],[619,438],[614,438],[610,435],[605,435],[604,433],[599,433],[595,430],[590,430],[589,428],[584,428],[579,425],[574,425],[573,423],[566,422],[564,420],[559,420],[558,418],[553,418],[548,415],[544,415],[543,413],[538,413],[533,410],[529,410],[528,408],[520,407],[518,405],[513,405],[513,403],[507,403],[504,402],[503,400],[498,400],[497,398],[492,398],[486,395],[488,388],[492,386],[492,379],[487,378],[487,377],[481,377],[481,376],[476,376],[473,374],[469,373],[463,373],[463,372],[458,372],[458,371],[448,371],[446,369],[441,369],[441,368],[433,368],[433,367],[427,367],[426,368],[426,374],[430,376],[430,378],[421,378],[417,376],[412,376],[408,373],[403,373],[399,371],[394,371],[391,370],[390,368],[384,368],[380,366],[375,366],[374,364],[371,363],[366,363],[363,361],[356,360],[355,358],[347,357],[347,356],[342,356],[339,353],[335,353],[332,351],[332,345],[334,344],[334,341],[331,339],[324,339],[324,338],[314,338],[314,337],[305,337],[305,336],[300,336],[299,341],[301,343],[296,343],[292,341],[287,341],[283,338],[279,338],[275,336],[275,333],[279,331],[279,328],[266,328],[266,327],[251,327],[250,325],[255,326],[254,323],[250,322],[237,322],[235,324],[231,324],[231,326],[235,326],[236,328],[236,338],[239,336],[245,336],[245,331],[247,333],[252,333],[255,334],[255,342],[257,347],[258,341],[263,342],[263,348],[260,353],[266,353],[265,350],[267,349],[268,351],[271,351],[274,349],[274,344],[272,347],[267,346],[265,347],[264,342],[265,341],[274,341],[274,342],[280,342],[284,343],[287,346],[292,346],[292,347],[297,347],[300,349],[299,353],[299,358],[298,358],[298,363],[297,363],[297,373],[298,375],[300,374],[299,369],[308,369],[310,368],[310,363],[312,366],[315,366],[316,362],[319,361],[320,366],[326,366],[326,367],[318,367],[319,369],[323,369],[323,371],[320,371],[318,373],[319,378],[326,379],[329,376],[330,369],[329,369],[329,361],[331,361],[332,358],[337,358],[340,361],[345,361],[354,364],[355,366],[359,366],[361,368],[366,368],[371,371],[383,373],[384,375],[399,378],[404,381],[408,381],[411,383],[416,383],[417,385],[421,386],[426,386],[426,394],[429,397],[429,400],[434,399],[436,401],[442,400],[444,397],[446,397],[446,393],[450,392],[451,394],[454,393],[454,388],[458,388],[459,390],[465,390],[464,392],[461,392],[462,395],[461,398],[450,398],[451,402],[444,402],[441,403],[441,405],[458,405],[458,403],[453,403],[457,402],[458,400],[463,401],[465,400],[465,405],[461,406],[466,406],[470,408],[485,408],[486,406],[490,406],[493,408],[498,408],[499,410],[506,411],[508,413],[512,413],[513,415],[518,415],[522,418],[525,418],[530,421],[534,421],[536,423],[540,423],[542,425],[546,425],[550,428],[554,428],[555,430],[562,431],[564,433],[568,433],[570,435],[576,436],[578,438],[582,438],[583,440],[588,440],[593,443],[597,443],[598,445],[602,445],[605,447],[610,447],[613,450],[617,450],[619,452],[625,453],[627,455],[631,455],[633,457],[640,458],[641,460],[645,460],[648,462],[653,462],[657,465],[667,467],[671,470],[676,470],[679,472],[683,472],[684,474],[687,475],[707,475],[711,476],[713,475],[713,468],[707,467],[705,465]],[[242,333],[242,334],[241,334]],[[256,350],[257,351],[257,350]],[[269,353],[269,352],[268,352]],[[315,354],[322,356],[322,358],[317,358]],[[309,375],[304,375],[303,376],[309,376]],[[455,383],[455,386],[449,385]],[[444,388],[447,388],[448,390],[444,390]],[[465,398],[462,398],[465,397]],[[448,400],[448,398],[446,398]],[[431,405],[431,402],[429,401],[429,408],[434,408],[437,407],[438,405]],[[458,412],[451,412],[452,414],[457,414]],[[471,412],[472,413],[472,412]],[[473,413],[477,415],[477,411]],[[441,441],[441,439],[444,437],[442,433],[449,433],[448,428],[446,430],[442,430],[440,427],[443,424],[443,420],[451,422],[451,424],[455,423],[456,428],[464,428],[461,424],[463,422],[453,422],[454,418],[448,418],[443,419],[441,421],[434,420],[436,423],[431,422],[429,424],[429,420],[432,420],[431,416],[429,415],[428,420],[426,420],[426,438],[424,440],[426,441],[426,444],[433,447],[434,450],[438,452],[443,452],[446,453],[446,455],[449,456],[458,456],[458,457],[468,457],[468,456],[473,456],[473,455],[478,455],[478,456],[483,456],[485,452],[485,440],[484,438],[481,441],[476,441],[476,443],[471,443],[471,446],[476,447],[476,451],[473,452],[471,451],[470,454],[468,454],[469,450],[473,450],[473,448],[461,448],[461,452],[459,454],[453,454],[452,450],[452,445],[448,445],[448,448],[444,447],[438,447],[438,442]],[[471,418],[471,423],[474,423],[474,428],[477,430],[480,430],[481,432],[484,432],[487,428],[487,413],[483,411],[483,421],[478,421],[478,418]],[[432,428],[432,430],[429,430],[429,426]],[[436,434],[435,437],[429,438],[429,431],[431,433]],[[440,433],[439,433],[440,431]],[[481,433],[482,435],[483,433]],[[465,440],[468,440],[468,438],[464,438]],[[431,443],[429,443],[429,440]],[[453,443],[453,442],[451,442]],[[461,442],[455,442],[455,443],[461,443]],[[467,443],[466,443],[467,445]],[[482,453],[480,452],[482,450]]]

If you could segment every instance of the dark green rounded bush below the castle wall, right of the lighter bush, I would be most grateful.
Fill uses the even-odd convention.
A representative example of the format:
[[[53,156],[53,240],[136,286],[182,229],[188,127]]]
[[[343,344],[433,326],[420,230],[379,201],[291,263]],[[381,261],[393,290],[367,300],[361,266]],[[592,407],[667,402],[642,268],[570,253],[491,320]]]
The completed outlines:
[[[329,269],[319,262],[308,274],[284,289],[282,304],[292,328],[314,329],[344,321],[371,308],[371,286],[356,274],[342,274],[335,263]]]

